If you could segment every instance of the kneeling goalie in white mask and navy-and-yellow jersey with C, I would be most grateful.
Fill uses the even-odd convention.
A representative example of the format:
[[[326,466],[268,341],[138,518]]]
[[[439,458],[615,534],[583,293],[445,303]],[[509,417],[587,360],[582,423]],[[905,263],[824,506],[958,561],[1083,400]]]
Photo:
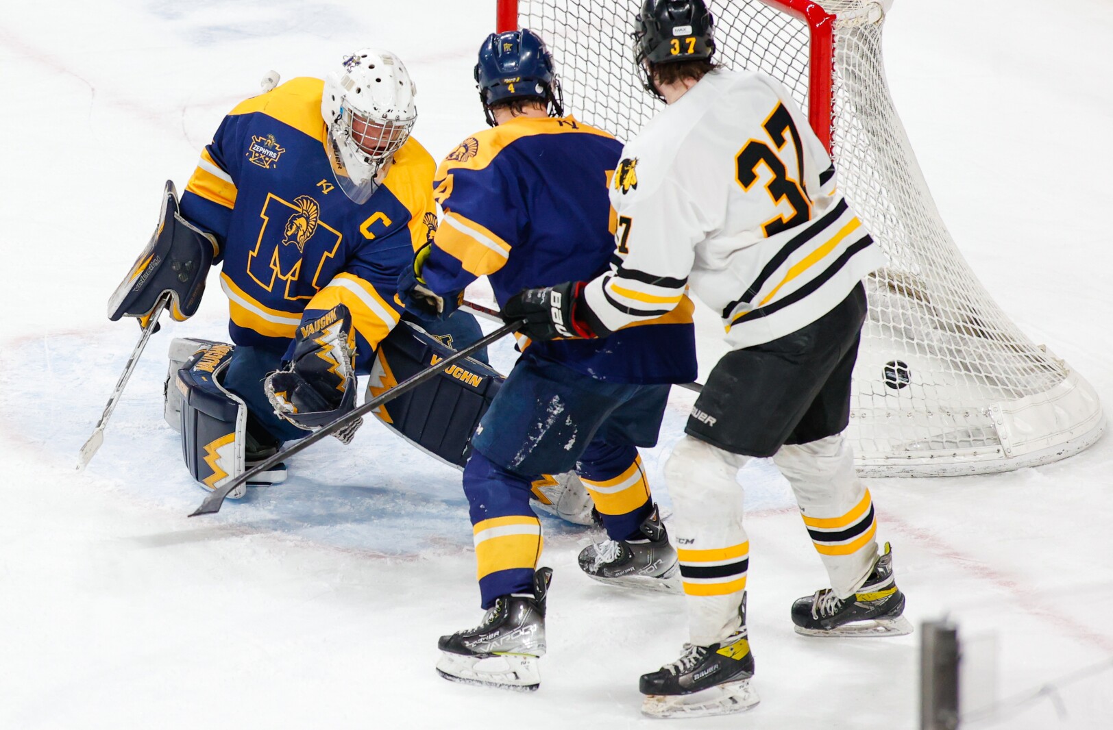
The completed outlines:
[[[206,487],[349,408],[355,374],[398,324],[398,274],[436,228],[435,164],[410,135],[414,95],[397,56],[356,51],[324,80],[295,78],[233,109],[180,207],[168,185],[110,316],[144,322],[154,302],[142,297],[170,289],[170,314],[185,319],[220,265],[234,347],[198,353],[168,388],[181,391],[187,465]],[[480,335],[464,313],[426,328],[457,346]]]

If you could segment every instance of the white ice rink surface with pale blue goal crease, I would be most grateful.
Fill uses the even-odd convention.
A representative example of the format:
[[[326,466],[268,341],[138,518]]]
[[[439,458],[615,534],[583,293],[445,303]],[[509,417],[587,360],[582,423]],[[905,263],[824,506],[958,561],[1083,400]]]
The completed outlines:
[[[633,2],[631,0],[631,6]],[[638,675],[680,653],[682,600],[609,591],[545,520],[550,653],[531,696],[454,685],[436,638],[479,618],[459,474],[366,425],[216,516],[161,418],[174,336],[221,338],[225,302],[154,336],[88,471],[73,472],[138,335],[105,306],[221,116],[269,69],[397,51],[441,158],[483,126],[471,69],[493,0],[40,0],[0,14],[0,728],[629,728]],[[974,270],[1113,407],[1113,6],[897,0],[887,76]],[[713,331],[709,328],[709,331]],[[720,345],[707,339],[703,369]],[[503,346],[496,361],[505,366]],[[660,467],[689,394],[647,464]],[[1113,440],[992,476],[870,483],[914,623],[995,632],[1003,699],[1113,657]],[[825,584],[786,485],[746,474],[761,704],[700,728],[918,727],[918,637],[809,640]],[[1113,727],[1113,672],[983,728]],[[686,723],[679,723],[686,724]],[[657,726],[653,726],[657,727]],[[677,726],[679,727],[679,726]],[[687,726],[686,726],[687,727]]]

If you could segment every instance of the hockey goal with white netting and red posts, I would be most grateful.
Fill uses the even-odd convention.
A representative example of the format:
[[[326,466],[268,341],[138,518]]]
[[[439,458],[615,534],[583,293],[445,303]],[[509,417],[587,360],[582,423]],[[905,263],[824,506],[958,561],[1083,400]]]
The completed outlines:
[[[549,43],[579,119],[632,138],[656,114],[629,38],[637,0],[500,0],[500,30]],[[712,0],[717,60],[785,83],[831,150],[839,186],[889,257],[870,315],[848,436],[865,475],[946,475],[1046,463],[1093,443],[1091,386],[1030,341],[958,253],[889,97],[892,0]]]

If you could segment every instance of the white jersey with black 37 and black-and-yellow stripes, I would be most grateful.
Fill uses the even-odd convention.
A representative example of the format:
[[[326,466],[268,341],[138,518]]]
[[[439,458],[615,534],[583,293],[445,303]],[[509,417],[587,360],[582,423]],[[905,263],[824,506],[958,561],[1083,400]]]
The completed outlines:
[[[611,270],[584,289],[610,331],[659,317],[686,286],[733,348],[833,309],[885,255],[835,186],[823,142],[772,78],[716,70],[622,150]]]

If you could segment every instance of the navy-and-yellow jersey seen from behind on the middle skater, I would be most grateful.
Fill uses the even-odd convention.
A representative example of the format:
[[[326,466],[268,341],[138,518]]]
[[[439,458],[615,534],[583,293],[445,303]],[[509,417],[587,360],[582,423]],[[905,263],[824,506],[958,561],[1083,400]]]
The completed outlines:
[[[591,280],[614,256],[608,186],[622,145],[572,117],[515,117],[469,137],[436,171],[444,208],[422,277],[437,293],[486,275],[500,306],[526,287]],[[620,241],[621,243],[621,241]],[[692,303],[604,339],[528,344],[599,379],[696,379]]]

